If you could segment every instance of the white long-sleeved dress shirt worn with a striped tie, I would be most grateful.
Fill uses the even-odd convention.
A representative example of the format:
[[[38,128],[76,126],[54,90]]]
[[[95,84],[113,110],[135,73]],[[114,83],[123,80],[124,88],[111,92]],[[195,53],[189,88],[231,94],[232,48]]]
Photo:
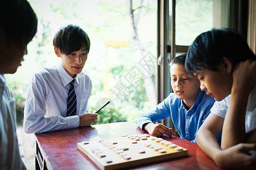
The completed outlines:
[[[44,68],[33,75],[24,107],[23,126],[26,133],[42,133],[79,126],[78,115],[88,111],[92,82],[83,72],[77,74],[75,79],[77,115],[66,117],[69,82],[73,78],[61,63]]]

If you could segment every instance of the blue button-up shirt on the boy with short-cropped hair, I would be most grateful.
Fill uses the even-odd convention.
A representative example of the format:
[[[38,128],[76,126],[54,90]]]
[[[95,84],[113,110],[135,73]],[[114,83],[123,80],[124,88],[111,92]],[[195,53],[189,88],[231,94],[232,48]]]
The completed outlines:
[[[141,116],[137,118],[136,123],[144,130],[144,124],[150,122],[155,123],[171,116],[172,122],[180,137],[191,142],[196,142],[196,132],[210,113],[210,108],[214,101],[213,97],[199,90],[195,103],[189,111],[187,111],[183,101],[174,93],[171,93],[162,103],[158,104],[156,108],[141,114]]]

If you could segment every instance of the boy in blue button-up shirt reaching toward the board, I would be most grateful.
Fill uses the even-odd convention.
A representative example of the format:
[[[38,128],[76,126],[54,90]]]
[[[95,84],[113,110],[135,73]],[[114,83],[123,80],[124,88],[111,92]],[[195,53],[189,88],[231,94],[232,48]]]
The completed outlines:
[[[210,113],[214,99],[200,90],[199,80],[185,70],[187,54],[175,57],[170,63],[171,93],[156,108],[137,118],[139,127],[149,134],[160,137],[163,134],[172,136],[173,131],[163,124],[155,124],[167,117],[172,122],[180,137],[196,142],[196,132]]]

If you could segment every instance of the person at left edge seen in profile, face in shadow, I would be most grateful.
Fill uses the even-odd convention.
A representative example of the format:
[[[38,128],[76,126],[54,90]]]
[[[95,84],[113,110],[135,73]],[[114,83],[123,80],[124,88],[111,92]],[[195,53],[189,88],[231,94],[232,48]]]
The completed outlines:
[[[10,0],[1,1],[0,21],[0,169],[26,169],[16,135],[15,99],[4,74],[14,74],[21,65],[38,19],[26,0]]]

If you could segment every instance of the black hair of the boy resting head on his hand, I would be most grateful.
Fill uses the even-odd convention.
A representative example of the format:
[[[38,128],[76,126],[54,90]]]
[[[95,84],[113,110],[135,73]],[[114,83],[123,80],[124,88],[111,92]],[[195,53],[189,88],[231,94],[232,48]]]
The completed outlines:
[[[240,33],[233,29],[212,29],[201,33],[189,46],[185,69],[189,74],[201,69],[217,71],[224,57],[234,64],[246,59],[256,59]]]

